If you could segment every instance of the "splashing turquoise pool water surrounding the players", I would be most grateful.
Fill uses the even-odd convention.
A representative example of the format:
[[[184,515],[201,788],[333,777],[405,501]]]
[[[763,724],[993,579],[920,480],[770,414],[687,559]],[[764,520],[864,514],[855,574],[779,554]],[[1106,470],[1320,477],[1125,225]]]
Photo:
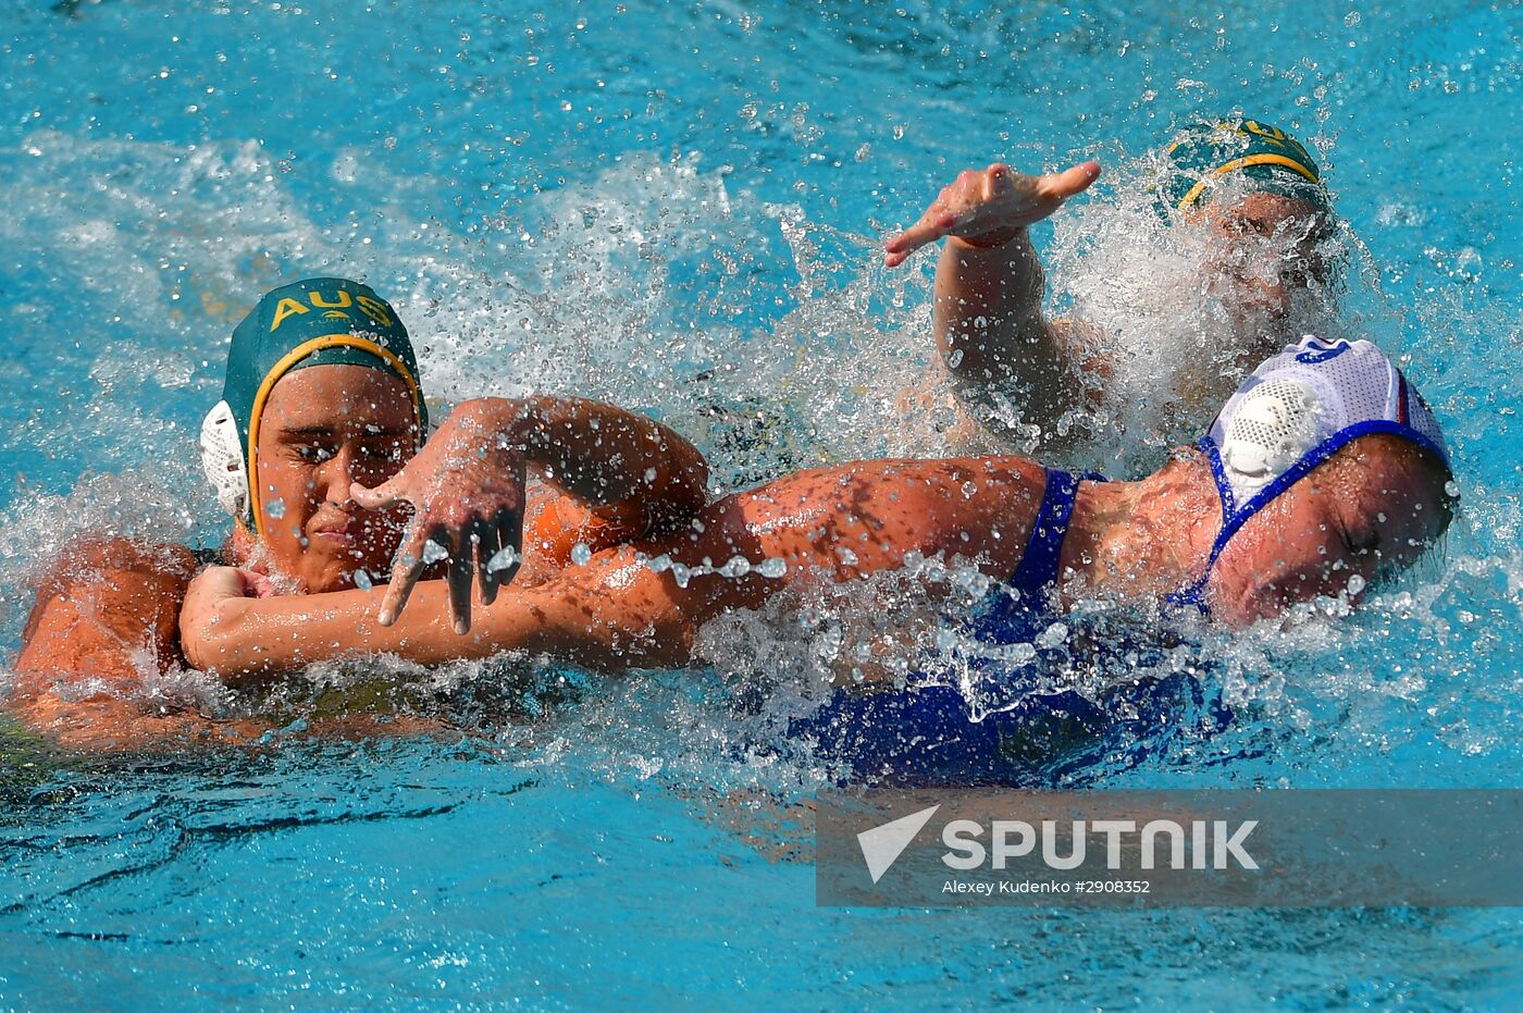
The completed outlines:
[[[391,296],[445,401],[611,398],[693,433],[725,483],[935,452],[944,405],[906,420],[889,396],[931,353],[931,257],[885,273],[882,238],[996,157],[1098,155],[1113,172],[1080,207],[1121,201],[1130,158],[1241,108],[1323,161],[1362,244],[1348,314],[1410,356],[1465,515],[1355,615],[1182,647],[1234,702],[1228,731],[1060,780],[1517,785],[1512,5],[105,0],[0,18],[8,647],[73,532],[222,530],[193,433],[225,335],[280,279]],[[1084,238],[1057,228],[1037,241],[1072,262]],[[713,405],[762,405],[787,434],[740,452]],[[6,740],[0,1004],[1517,1005],[1512,911],[818,909],[801,803],[822,772],[754,748],[733,702],[737,681],[790,685],[819,638],[716,637],[752,670],[568,692],[576,673],[547,666],[382,669],[448,682],[448,742],[291,734],[53,766]],[[475,707],[484,682],[509,687],[512,721]]]

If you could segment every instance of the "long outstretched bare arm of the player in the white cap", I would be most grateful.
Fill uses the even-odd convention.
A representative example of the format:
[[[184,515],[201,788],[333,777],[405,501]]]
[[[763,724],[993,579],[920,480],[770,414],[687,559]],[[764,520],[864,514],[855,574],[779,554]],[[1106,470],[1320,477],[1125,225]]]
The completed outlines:
[[[798,472],[726,497],[685,529],[608,548],[547,583],[509,588],[466,635],[443,618],[440,580],[417,586],[423,608],[381,626],[379,591],[250,599],[236,590],[238,571],[213,570],[186,599],[181,635],[190,663],[228,682],[372,652],[420,664],[518,649],[603,670],[675,666],[690,658],[705,622],[758,608],[797,580],[897,570],[909,551],[976,559],[1002,579],[1019,562],[1042,489],[1040,466],[1014,457]],[[649,559],[663,554],[699,573],[681,582],[658,573]],[[736,556],[748,567],[716,571]],[[781,561],[783,574],[758,567],[763,561]]]

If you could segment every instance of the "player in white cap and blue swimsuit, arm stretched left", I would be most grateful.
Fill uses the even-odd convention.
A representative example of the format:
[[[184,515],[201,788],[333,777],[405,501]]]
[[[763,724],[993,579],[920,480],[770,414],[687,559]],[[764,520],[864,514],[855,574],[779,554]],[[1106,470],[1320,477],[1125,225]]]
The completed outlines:
[[[1263,363],[1196,448],[1141,481],[1022,457],[803,471],[719,500],[670,535],[507,588],[468,635],[451,626],[442,580],[422,582],[382,625],[381,590],[256,599],[235,568],[196,577],[181,632],[190,661],[227,681],[358,650],[422,664],[521,649],[603,670],[670,667],[691,661],[696,631],[722,612],[798,582],[899,570],[911,554],[961,558],[996,582],[964,617],[993,641],[1030,641],[1034,618],[1080,597],[1243,625],[1316,596],[1357,599],[1410,564],[1450,521],[1448,481],[1438,423],[1397,366],[1366,341],[1305,338]],[[958,775],[973,777],[984,746],[1019,734],[1014,719],[973,722],[943,685],[842,693],[825,730],[870,757],[868,771],[938,754],[961,756]]]

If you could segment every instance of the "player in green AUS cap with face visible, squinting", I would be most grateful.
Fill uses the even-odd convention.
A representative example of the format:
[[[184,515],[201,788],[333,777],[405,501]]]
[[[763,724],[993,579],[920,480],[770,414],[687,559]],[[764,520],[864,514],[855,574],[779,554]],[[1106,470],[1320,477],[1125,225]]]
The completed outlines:
[[[11,710],[73,743],[210,731],[168,704],[145,714],[139,693],[146,675],[183,664],[180,609],[209,559],[236,567],[216,571],[238,574],[239,593],[305,596],[387,583],[399,558],[388,606],[428,568],[454,588],[452,625],[465,629],[472,580],[489,602],[515,577],[525,516],[532,550],[518,579],[533,583],[577,542],[652,535],[704,504],[698,451],[618,408],[480,399],[425,442],[426,427],[407,329],[375,291],[321,277],[267,294],[233,332],[201,436],[233,516],[227,541],[200,558],[126,539],[70,551],[38,590]],[[527,503],[525,468],[548,483]],[[367,649],[356,629],[334,647]]]

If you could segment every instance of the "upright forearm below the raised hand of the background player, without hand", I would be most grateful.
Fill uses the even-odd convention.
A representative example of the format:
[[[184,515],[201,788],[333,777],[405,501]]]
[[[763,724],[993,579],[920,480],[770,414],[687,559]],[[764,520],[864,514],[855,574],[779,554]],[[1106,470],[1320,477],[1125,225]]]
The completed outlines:
[[[1025,228],[987,248],[946,241],[934,305],[941,361],[967,393],[1016,393],[1037,423],[1072,401],[1074,375],[1068,344],[1042,314],[1045,292]]]

